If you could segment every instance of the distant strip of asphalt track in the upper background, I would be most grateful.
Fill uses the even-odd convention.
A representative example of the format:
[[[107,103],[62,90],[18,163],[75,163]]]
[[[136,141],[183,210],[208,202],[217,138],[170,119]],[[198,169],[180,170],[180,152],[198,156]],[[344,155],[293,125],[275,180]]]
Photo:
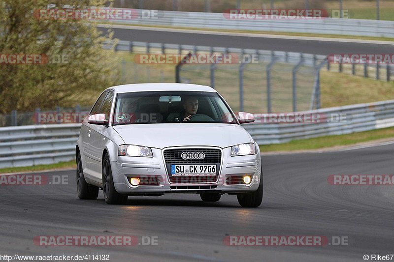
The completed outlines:
[[[100,30],[106,30],[99,28]],[[329,54],[392,54],[394,45],[358,42],[337,42],[271,37],[246,37],[190,32],[170,32],[145,29],[113,29],[114,37],[127,41],[167,44],[201,45],[215,47],[251,48],[262,50]],[[346,41],[346,40],[345,40]],[[349,40],[351,41],[351,40]]]

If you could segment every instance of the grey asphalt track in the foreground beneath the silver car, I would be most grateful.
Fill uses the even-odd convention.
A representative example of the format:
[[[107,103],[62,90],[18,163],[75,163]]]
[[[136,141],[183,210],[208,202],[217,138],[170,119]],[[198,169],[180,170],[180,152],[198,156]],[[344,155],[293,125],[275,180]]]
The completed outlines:
[[[0,187],[0,255],[108,254],[110,261],[364,261],[394,253],[394,187],[329,185],[332,174],[393,175],[394,145],[263,156],[264,198],[242,208],[235,196],[129,197],[107,205],[102,191],[79,200],[68,185]],[[39,235],[157,236],[157,246],[37,246]],[[347,236],[343,246],[227,246],[226,235]],[[330,238],[329,238],[330,239]],[[140,240],[139,240],[140,241]]]

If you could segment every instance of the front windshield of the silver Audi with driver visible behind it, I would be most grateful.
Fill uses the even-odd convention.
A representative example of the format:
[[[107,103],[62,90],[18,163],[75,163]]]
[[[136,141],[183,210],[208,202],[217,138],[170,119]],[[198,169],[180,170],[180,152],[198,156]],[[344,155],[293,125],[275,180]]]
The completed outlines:
[[[215,92],[130,92],[120,93],[116,99],[114,125],[192,122],[237,124]]]

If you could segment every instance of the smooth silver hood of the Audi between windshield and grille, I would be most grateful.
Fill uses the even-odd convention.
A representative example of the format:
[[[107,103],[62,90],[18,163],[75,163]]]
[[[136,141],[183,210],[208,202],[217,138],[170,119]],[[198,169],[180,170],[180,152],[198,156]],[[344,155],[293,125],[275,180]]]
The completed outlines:
[[[114,126],[127,145],[220,146],[250,143],[250,135],[239,125],[218,123],[129,124]]]

